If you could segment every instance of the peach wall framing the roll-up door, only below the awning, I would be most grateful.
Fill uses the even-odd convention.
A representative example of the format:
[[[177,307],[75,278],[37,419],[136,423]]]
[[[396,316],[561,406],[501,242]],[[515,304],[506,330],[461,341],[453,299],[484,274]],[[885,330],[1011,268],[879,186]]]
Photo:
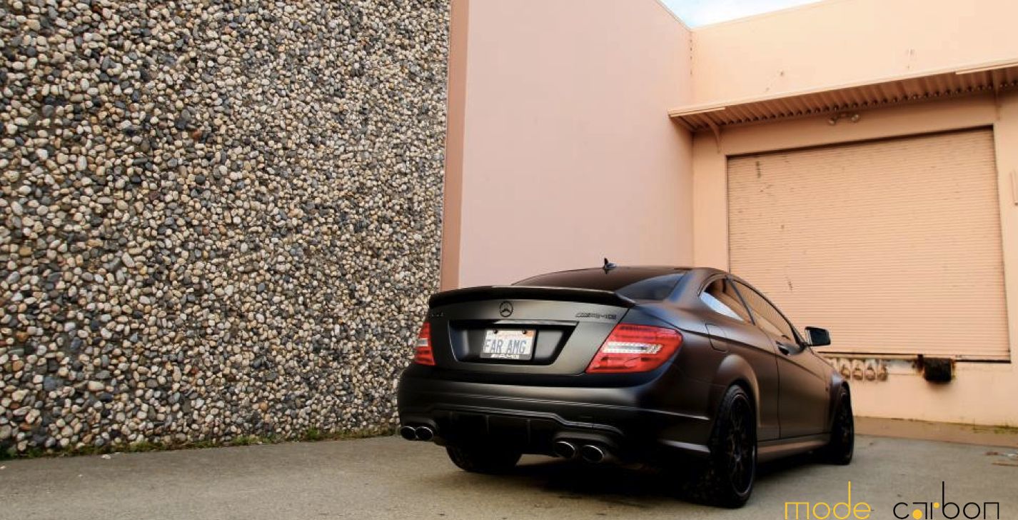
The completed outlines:
[[[1010,145],[1018,141],[1018,93],[862,111],[860,116],[857,123],[834,126],[828,124],[827,116],[818,116],[727,128],[722,131],[720,150],[713,133],[697,133],[693,146],[694,263],[728,269],[728,156],[989,126],[997,149],[1011,359],[1018,359],[1018,305],[1014,303],[1018,302],[1018,206],[1013,185],[1018,149]],[[856,414],[1018,425],[1014,363],[958,362],[955,380],[946,385],[927,383],[917,371],[898,366],[886,382],[852,382]]]

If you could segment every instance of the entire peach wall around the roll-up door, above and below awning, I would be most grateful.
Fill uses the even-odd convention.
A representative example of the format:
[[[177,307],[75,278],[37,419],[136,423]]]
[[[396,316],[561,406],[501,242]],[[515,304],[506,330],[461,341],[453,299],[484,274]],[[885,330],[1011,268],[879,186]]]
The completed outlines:
[[[1018,3],[974,0],[931,9],[918,0],[828,0],[693,32],[689,106],[775,97],[1018,59]],[[676,107],[671,107],[676,108]],[[1018,93],[858,111],[699,132],[693,145],[694,263],[729,267],[726,158],[989,126],[996,141],[1011,359],[1018,359]],[[780,302],[778,302],[780,304]],[[816,325],[824,324],[800,324]],[[835,338],[837,341],[837,338]],[[855,412],[876,417],[1018,425],[1013,362],[958,362],[954,381],[925,382],[907,363],[886,382],[853,382]]]

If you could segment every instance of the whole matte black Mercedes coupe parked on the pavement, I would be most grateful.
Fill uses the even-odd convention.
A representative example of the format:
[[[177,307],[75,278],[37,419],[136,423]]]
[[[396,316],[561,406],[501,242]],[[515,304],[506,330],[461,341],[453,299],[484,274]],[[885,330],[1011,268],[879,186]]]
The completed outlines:
[[[848,383],[759,291],[724,271],[614,267],[435,294],[399,383],[400,435],[467,471],[520,455],[695,468],[738,507],[758,460],[847,464]]]

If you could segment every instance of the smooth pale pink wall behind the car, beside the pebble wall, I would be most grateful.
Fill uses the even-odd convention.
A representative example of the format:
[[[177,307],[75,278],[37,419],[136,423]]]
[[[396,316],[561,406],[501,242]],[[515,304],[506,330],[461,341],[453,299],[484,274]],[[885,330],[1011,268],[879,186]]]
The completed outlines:
[[[463,140],[449,147],[462,154],[459,250],[446,251],[458,269],[443,285],[603,256],[690,264],[691,137],[667,116],[690,101],[685,26],[655,0],[467,10]]]

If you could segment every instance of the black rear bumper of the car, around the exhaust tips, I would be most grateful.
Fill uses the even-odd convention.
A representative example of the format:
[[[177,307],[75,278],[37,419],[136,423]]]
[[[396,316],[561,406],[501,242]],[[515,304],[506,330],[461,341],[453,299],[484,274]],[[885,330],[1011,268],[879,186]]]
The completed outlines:
[[[709,417],[638,406],[655,382],[622,388],[531,387],[450,381],[404,372],[403,426],[427,425],[439,445],[492,443],[553,455],[559,441],[595,445],[623,460],[702,457]]]

